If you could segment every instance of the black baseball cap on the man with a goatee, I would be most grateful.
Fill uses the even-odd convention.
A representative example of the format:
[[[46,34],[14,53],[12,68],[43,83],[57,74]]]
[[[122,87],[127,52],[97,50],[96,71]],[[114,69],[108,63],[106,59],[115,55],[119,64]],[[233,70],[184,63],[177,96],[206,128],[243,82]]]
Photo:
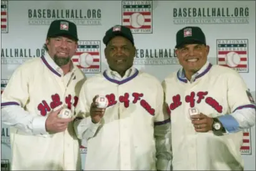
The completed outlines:
[[[78,40],[77,25],[67,20],[55,20],[50,24],[47,37],[57,37],[59,35],[67,35],[73,40]]]

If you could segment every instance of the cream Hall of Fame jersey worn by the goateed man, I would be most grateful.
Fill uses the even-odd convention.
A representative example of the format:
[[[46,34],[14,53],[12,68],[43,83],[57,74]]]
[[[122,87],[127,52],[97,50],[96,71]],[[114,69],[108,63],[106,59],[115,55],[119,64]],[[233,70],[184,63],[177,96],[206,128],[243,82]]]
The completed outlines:
[[[48,53],[14,71],[1,97],[2,122],[11,126],[12,170],[81,170],[73,123],[64,132],[49,134],[45,119],[60,105],[74,114],[84,80],[74,65],[64,75]]]

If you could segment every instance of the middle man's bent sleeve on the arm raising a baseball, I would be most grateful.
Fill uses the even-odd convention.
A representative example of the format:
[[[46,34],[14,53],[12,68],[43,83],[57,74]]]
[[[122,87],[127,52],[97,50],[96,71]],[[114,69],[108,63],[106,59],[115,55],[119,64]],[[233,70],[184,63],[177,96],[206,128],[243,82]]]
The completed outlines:
[[[92,100],[87,98],[88,92],[87,81],[85,81],[79,93],[77,107],[75,108],[76,117],[73,124],[78,139],[85,140],[93,137],[96,134],[98,127],[101,125],[100,122],[97,124],[93,123],[90,117],[90,101]]]

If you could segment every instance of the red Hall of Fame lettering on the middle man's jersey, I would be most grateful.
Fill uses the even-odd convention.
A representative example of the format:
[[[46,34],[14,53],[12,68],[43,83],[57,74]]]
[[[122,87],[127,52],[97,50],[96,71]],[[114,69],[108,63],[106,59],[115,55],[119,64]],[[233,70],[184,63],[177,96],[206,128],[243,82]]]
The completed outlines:
[[[125,93],[124,95],[121,95],[118,97],[118,100],[120,103],[123,103],[125,108],[128,108],[130,106],[130,103],[136,104],[140,102],[140,105],[151,115],[154,116],[154,109],[151,107],[151,105],[143,98],[143,93],[131,93],[131,96],[133,97],[133,101],[129,100],[129,93]],[[117,103],[116,96],[111,93],[110,95],[106,95],[106,98],[108,98],[108,107],[113,106]]]

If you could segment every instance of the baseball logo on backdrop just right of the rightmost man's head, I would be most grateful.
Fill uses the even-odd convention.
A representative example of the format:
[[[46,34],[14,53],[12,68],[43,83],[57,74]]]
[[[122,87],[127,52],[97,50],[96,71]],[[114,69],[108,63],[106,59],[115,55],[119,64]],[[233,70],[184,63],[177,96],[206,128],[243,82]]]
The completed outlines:
[[[248,39],[217,39],[217,64],[249,72]]]

